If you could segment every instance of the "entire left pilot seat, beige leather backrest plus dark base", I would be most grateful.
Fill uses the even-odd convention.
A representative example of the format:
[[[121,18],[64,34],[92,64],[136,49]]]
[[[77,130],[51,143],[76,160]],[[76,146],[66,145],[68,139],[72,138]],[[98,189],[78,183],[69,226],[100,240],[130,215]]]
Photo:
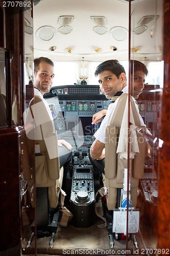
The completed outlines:
[[[34,234],[36,228],[37,237],[52,234],[53,240],[59,222],[57,209],[60,206],[58,201],[63,167],[60,168],[53,116],[45,99],[34,96],[30,101],[25,120],[27,137],[35,141],[36,221],[32,224],[32,231]],[[64,202],[64,196],[60,198]],[[50,221],[51,208],[56,211],[53,220]]]

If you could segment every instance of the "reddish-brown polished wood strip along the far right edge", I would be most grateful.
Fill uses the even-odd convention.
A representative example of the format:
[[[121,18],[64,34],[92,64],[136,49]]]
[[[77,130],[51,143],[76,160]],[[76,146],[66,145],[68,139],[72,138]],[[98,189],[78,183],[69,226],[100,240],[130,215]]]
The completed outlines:
[[[157,248],[169,249],[170,245],[170,1],[164,0],[164,86],[162,94],[162,115],[160,122],[160,138],[164,141],[163,146],[159,150],[158,166],[159,166],[159,203],[158,203],[158,244]]]

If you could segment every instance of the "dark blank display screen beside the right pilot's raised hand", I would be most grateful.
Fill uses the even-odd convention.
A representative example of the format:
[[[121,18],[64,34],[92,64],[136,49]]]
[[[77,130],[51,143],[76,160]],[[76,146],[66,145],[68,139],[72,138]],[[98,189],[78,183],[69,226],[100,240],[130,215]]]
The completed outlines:
[[[80,116],[78,120],[78,135],[91,136],[95,133],[95,125],[91,124],[92,116]]]

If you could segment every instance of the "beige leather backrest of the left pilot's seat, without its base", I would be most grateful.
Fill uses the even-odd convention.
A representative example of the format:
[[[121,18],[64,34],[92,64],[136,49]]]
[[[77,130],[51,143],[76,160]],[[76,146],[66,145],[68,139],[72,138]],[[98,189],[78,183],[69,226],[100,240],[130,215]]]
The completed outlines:
[[[50,207],[56,208],[58,186],[62,184],[58,139],[50,108],[42,97],[35,95],[31,100],[25,126],[27,137],[35,141],[36,187],[48,187]]]

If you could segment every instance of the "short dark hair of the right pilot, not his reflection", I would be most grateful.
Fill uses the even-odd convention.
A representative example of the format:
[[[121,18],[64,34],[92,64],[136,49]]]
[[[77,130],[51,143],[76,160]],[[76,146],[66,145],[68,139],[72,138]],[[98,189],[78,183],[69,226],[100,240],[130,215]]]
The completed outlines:
[[[119,78],[120,74],[125,73],[124,67],[119,63],[117,59],[109,59],[102,62],[95,70],[94,75],[98,76],[104,71],[111,71],[117,78]]]

